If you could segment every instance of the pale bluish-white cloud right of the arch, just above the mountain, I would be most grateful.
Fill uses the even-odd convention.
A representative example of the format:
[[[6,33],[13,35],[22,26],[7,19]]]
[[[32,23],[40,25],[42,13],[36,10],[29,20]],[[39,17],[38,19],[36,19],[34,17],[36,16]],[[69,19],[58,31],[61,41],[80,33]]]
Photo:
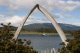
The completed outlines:
[[[80,18],[72,15],[57,14],[60,18],[56,19],[58,23],[80,26]],[[66,19],[65,19],[66,18]]]

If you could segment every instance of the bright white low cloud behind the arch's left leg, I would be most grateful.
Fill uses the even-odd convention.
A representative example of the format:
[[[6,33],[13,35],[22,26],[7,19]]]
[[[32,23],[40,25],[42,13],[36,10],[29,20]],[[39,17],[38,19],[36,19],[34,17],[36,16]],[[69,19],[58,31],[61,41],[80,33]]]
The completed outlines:
[[[25,16],[10,16],[6,17],[4,15],[0,15],[0,23],[7,24],[11,23],[13,26],[20,26],[20,24],[23,22]],[[25,25],[32,24],[32,23],[46,23],[49,22],[47,19],[38,19],[35,16],[30,16],[28,20],[26,21]]]

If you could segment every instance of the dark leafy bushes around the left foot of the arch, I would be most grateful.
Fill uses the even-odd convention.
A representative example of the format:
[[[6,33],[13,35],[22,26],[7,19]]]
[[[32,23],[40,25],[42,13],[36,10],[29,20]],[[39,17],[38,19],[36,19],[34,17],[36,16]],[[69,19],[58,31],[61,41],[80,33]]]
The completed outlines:
[[[1,25],[3,27],[0,29],[0,53],[38,53],[30,46],[30,40],[12,40],[10,23]]]

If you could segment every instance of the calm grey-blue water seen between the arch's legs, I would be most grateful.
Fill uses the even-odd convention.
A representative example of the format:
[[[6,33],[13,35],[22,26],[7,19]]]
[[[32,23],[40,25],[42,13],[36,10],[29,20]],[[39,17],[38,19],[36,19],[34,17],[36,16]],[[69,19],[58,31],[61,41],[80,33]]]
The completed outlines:
[[[71,36],[67,36],[67,38],[70,38]],[[59,45],[61,43],[61,39],[58,35],[53,36],[42,36],[42,35],[30,35],[30,34],[21,34],[19,35],[20,39],[27,39],[31,40],[31,45],[33,48],[37,51],[45,50],[45,49],[51,49],[51,48],[60,48]]]

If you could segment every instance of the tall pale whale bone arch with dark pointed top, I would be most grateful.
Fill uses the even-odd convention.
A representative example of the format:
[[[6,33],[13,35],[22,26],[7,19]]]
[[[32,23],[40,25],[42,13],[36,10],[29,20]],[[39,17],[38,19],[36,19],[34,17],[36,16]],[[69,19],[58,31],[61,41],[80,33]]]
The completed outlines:
[[[63,32],[63,30],[61,29],[61,27],[59,26],[59,24],[56,22],[56,20],[53,18],[53,16],[45,9],[43,8],[42,6],[40,6],[39,4],[36,4],[32,10],[29,12],[28,16],[23,20],[23,22],[21,23],[21,26],[18,27],[18,29],[16,30],[15,34],[14,34],[14,37],[12,39],[16,40],[18,38],[18,35],[24,25],[24,23],[26,22],[26,20],[29,18],[29,16],[32,14],[32,12],[35,10],[35,9],[38,9],[39,11],[41,11],[50,21],[51,23],[53,24],[53,26],[55,27],[56,31],[58,32],[58,34],[60,35],[60,38],[62,40],[62,42],[64,42],[65,45],[67,45],[67,42],[66,42],[66,36]]]

